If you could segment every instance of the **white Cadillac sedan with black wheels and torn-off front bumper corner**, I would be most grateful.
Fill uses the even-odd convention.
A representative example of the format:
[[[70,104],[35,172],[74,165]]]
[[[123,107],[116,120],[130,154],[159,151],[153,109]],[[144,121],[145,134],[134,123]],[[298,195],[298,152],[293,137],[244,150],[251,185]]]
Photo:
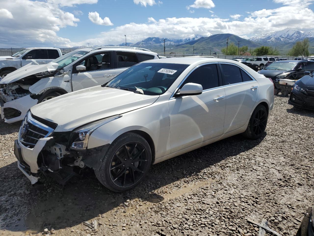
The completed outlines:
[[[32,184],[40,183],[39,172],[65,183],[92,168],[104,186],[126,191],[151,164],[239,133],[261,137],[273,89],[236,61],[150,60],[101,86],[33,106],[14,153]]]

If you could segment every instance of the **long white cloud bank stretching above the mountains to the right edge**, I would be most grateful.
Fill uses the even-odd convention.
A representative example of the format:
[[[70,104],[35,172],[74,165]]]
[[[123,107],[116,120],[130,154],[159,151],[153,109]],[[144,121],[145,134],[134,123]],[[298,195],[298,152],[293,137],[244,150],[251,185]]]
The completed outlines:
[[[312,30],[314,12],[308,6],[314,0],[292,1],[298,1],[299,4],[293,2],[279,8],[252,12],[243,20],[222,19],[213,14],[211,18],[173,17],[151,19],[148,23],[143,24],[128,23],[102,32],[97,38],[77,42],[75,45],[85,45],[89,41],[95,45],[117,44],[123,42],[124,34],[127,34],[130,42],[138,42],[146,37],[181,38],[194,33],[200,35],[231,33],[248,38],[269,31],[283,30],[287,27],[304,31]],[[306,2],[301,4],[301,1]],[[189,6],[187,9],[190,9]],[[304,24],[304,22],[308,22],[308,24]]]

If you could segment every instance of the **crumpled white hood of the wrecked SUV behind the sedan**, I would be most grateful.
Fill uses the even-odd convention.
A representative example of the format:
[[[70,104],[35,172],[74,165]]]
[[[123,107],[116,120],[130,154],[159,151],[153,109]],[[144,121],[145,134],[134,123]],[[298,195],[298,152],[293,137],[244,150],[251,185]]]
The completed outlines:
[[[32,61],[30,64],[25,65],[17,70],[14,70],[7,76],[5,76],[1,81],[0,84],[9,84],[20,79],[23,79],[27,76],[31,76],[37,73],[45,72],[45,71],[54,71],[57,70],[58,64],[49,62],[48,64],[39,65],[35,60]]]

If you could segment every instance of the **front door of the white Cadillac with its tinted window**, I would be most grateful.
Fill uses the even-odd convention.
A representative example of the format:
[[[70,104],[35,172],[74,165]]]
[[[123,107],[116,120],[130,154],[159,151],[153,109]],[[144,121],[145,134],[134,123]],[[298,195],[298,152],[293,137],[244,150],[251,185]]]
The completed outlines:
[[[171,153],[223,134],[225,89],[217,69],[217,64],[202,65],[179,87],[186,83],[201,84],[202,94],[169,100]]]

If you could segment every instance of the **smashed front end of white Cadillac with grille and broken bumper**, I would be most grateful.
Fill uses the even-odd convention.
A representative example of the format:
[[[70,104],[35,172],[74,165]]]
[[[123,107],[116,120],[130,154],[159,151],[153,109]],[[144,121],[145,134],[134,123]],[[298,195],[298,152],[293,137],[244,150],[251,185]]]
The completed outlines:
[[[39,173],[64,184],[85,167],[100,167],[107,145],[84,151],[71,150],[71,132],[54,132],[57,124],[27,113],[14,143],[18,168],[30,180],[39,181]],[[100,162],[100,163],[99,163]]]

